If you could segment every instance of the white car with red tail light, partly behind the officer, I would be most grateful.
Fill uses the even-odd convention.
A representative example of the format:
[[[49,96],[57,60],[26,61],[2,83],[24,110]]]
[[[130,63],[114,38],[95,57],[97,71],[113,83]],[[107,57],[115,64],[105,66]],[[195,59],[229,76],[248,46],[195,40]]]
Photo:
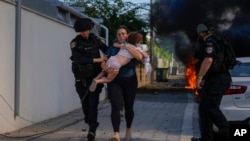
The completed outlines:
[[[230,123],[250,124],[250,57],[237,58],[230,70],[232,84],[222,97],[221,111]]]

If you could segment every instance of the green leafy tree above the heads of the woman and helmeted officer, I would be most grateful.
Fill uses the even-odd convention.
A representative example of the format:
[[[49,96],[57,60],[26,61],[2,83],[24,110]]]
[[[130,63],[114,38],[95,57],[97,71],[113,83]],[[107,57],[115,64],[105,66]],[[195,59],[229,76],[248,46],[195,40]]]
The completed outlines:
[[[116,29],[120,25],[126,25],[129,30],[138,31],[144,37],[149,31],[149,3],[135,4],[123,0],[78,0],[71,6],[84,7],[84,14],[93,18],[102,18],[103,25],[109,28],[109,43],[113,43]],[[102,34],[104,33],[101,32]]]

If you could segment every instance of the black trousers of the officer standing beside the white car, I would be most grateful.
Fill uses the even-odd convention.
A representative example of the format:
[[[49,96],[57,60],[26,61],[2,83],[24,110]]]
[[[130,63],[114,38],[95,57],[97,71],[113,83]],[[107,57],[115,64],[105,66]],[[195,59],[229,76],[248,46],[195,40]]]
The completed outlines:
[[[202,141],[212,141],[213,124],[219,128],[219,134],[224,136],[225,141],[229,138],[229,125],[220,110],[220,103],[223,94],[230,86],[230,82],[231,78],[228,75],[217,75],[205,80],[199,103]]]

